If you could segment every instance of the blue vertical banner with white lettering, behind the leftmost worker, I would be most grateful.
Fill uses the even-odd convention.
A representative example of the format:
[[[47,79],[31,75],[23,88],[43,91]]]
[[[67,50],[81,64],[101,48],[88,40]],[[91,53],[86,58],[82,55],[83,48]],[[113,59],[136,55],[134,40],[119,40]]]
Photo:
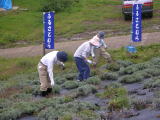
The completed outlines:
[[[46,49],[54,49],[54,12],[43,13],[44,44]]]

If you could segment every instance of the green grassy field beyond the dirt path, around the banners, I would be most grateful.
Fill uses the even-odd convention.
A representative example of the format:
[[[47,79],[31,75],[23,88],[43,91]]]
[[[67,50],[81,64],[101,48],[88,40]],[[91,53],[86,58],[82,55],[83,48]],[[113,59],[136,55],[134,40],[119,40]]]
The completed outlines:
[[[14,0],[16,11],[0,13],[0,47],[39,44],[43,41],[43,0]],[[27,9],[27,10],[24,10]],[[158,31],[160,2],[154,1],[154,17],[143,20],[143,31]],[[124,21],[120,0],[80,0],[55,15],[56,40],[85,32],[104,30],[108,36],[129,34],[131,22]]]

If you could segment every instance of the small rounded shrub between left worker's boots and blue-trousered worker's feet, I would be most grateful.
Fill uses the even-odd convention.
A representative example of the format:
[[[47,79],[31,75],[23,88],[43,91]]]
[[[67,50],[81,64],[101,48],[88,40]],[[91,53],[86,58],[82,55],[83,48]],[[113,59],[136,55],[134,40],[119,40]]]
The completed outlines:
[[[79,85],[77,81],[66,81],[62,86],[66,89],[74,89],[77,88]]]

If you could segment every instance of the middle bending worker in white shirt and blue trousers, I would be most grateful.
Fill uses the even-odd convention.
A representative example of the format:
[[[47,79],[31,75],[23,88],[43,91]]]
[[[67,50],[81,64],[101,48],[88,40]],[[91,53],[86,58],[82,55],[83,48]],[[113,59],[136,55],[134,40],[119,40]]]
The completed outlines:
[[[92,42],[92,41],[84,42],[78,47],[78,49],[74,53],[74,60],[79,71],[79,75],[77,77],[78,81],[83,81],[90,77],[90,68],[88,63],[94,64],[94,62],[89,60],[88,57],[92,54],[91,48],[93,46],[98,47],[99,42]]]

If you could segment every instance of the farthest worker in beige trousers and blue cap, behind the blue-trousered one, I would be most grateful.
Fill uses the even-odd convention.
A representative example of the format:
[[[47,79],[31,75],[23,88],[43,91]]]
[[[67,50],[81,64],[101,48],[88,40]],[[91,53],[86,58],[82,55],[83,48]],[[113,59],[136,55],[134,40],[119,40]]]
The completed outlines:
[[[112,61],[111,55],[105,50],[108,46],[104,42],[104,32],[99,32],[90,40],[90,42],[96,44],[99,42],[99,46],[93,46],[91,49],[93,61],[95,63],[98,62],[99,56],[104,57],[109,63]]]

